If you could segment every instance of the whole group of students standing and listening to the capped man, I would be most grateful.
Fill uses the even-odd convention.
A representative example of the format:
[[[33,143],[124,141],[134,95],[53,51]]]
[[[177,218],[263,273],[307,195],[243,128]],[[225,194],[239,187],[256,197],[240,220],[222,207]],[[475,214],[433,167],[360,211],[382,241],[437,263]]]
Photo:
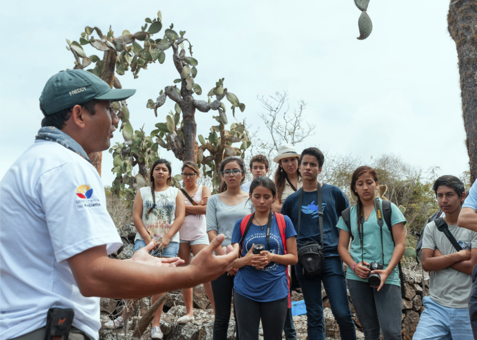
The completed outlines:
[[[157,160],[151,168],[152,186],[140,189],[134,201],[135,250],[145,246],[144,239],[153,238],[157,241],[153,255],[178,254],[188,264],[190,252],[196,255],[217,234],[225,235],[217,255],[222,246],[239,244],[241,257],[216,280],[204,284],[215,310],[216,340],[227,338],[232,297],[238,339],[258,339],[260,320],[265,339],[281,339],[283,331],[287,340],[296,339],[292,276],[303,292],[308,339],[325,338],[322,284],[342,339],[356,339],[347,289],[365,339],[379,339],[381,333],[385,340],[401,339],[403,282],[398,264],[406,248],[406,219],[393,203],[376,194],[376,171],[369,166],[354,171],[350,190],[356,204],[350,207],[341,189],[318,182],[324,156],[317,148],[298,154],[294,146],[284,145],[274,161],[279,166],[272,181],[265,177],[267,158],[254,156],[249,167],[253,181],[244,184],[243,159],[225,158],[219,168],[220,193],[211,196],[208,187],[197,184],[200,175],[194,162],[183,164],[183,188],[179,190],[169,186],[169,162]],[[454,176],[442,176],[433,189],[440,217],[462,250],[454,249],[435,221],[425,228],[422,263],[431,272],[430,296],[423,300],[425,311],[414,339],[445,339],[447,335],[471,339],[467,299],[470,274],[477,262],[477,253],[472,255],[477,233],[457,227],[466,198],[463,183]],[[471,189],[471,196],[475,190]],[[477,208],[476,201],[468,198],[466,204]],[[297,252],[310,242],[321,244],[324,256],[321,271],[314,276],[306,274]],[[194,320],[192,289],[183,289],[183,296],[187,314],[178,323]],[[153,339],[163,337],[161,311],[153,320]],[[122,323],[119,317],[106,327],[117,328]]]

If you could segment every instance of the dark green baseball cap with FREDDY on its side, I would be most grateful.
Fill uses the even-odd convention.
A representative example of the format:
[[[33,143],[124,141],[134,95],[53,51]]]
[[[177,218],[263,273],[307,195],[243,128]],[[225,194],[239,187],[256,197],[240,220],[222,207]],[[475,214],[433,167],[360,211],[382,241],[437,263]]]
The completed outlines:
[[[135,92],[111,88],[100,77],[84,70],[67,70],[48,79],[40,96],[40,104],[46,114],[52,114],[93,99],[113,102],[125,100]]]

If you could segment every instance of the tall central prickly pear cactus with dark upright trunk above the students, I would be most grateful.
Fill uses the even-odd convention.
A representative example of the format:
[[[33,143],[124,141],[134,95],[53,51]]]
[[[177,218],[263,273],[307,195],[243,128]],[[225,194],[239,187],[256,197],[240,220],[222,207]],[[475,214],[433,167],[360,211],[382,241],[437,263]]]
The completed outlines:
[[[192,57],[190,43],[184,38],[185,31],[180,31],[179,34],[180,37],[173,31],[173,25],[171,25],[160,41],[161,44],[172,47],[173,64],[179,78],[173,80],[175,85],[166,86],[164,90],[161,90],[156,101],[149,99],[146,104],[147,108],[154,110],[157,117],[158,109],[165,105],[168,98],[174,102],[174,111],[165,116],[165,121],[156,124],[157,129],[151,132],[151,136],[156,137],[155,147],[160,146],[173,151],[175,157],[182,161],[197,162],[198,167],[202,167],[204,175],[212,178],[213,189],[216,191],[221,181],[218,167],[222,159],[232,155],[244,158],[244,151],[252,144],[243,123],[239,125],[233,123],[229,130],[225,129],[228,118],[225,113],[226,106],[221,100],[226,97],[232,104],[230,110],[234,117],[235,108],[244,112],[245,104],[241,103],[235,94],[228,92],[227,88],[223,87],[224,78],[218,79],[215,86],[207,93],[207,102],[194,99],[194,95],[202,94],[201,86],[196,83],[196,66],[199,63]],[[186,55],[183,44],[185,41],[189,43],[190,56]],[[198,142],[195,123],[196,110],[203,113],[214,110],[218,113],[213,116],[218,125],[211,127],[209,137],[204,138],[199,135]],[[234,143],[240,143],[240,146],[232,146]]]

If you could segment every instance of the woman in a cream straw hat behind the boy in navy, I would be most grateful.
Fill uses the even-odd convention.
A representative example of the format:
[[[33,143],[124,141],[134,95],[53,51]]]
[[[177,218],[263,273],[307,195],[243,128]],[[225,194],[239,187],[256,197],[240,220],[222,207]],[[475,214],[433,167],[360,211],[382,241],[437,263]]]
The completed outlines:
[[[273,158],[278,163],[275,171],[275,185],[277,187],[277,200],[272,205],[272,210],[279,213],[282,204],[288,195],[302,188],[302,177],[300,176],[300,154],[297,153],[292,144],[280,145],[278,154]]]

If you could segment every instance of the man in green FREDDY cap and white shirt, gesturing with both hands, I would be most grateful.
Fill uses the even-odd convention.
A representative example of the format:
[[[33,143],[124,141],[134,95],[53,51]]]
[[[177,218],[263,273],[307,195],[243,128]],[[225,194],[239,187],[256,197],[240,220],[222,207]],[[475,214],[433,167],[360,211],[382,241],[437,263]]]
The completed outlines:
[[[111,89],[97,76],[63,71],[40,97],[44,114],[35,144],[0,182],[0,334],[3,340],[98,340],[99,298],[139,299],[191,288],[231,267],[238,248],[224,235],[194,257],[108,255],[123,242],[106,209],[106,195],[88,154],[109,148],[118,116],[112,101],[135,90]],[[139,193],[140,194],[140,193]],[[160,336],[160,334],[159,334]]]

